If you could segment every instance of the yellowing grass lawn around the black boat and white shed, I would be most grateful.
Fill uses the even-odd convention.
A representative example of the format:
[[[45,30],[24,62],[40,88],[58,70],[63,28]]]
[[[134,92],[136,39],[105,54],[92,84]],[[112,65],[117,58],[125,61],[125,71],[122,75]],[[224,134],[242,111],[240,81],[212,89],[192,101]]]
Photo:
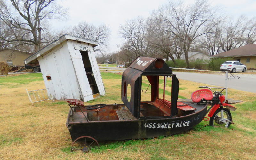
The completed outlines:
[[[122,103],[121,75],[101,73],[107,95],[86,102]],[[160,84],[163,82],[160,79]],[[166,94],[170,93],[167,81]],[[180,80],[180,98],[204,84]],[[143,78],[142,88],[148,87]],[[242,100],[232,111],[230,128],[211,127],[202,121],[192,130],[154,139],[100,142],[90,153],[71,153],[65,125],[69,107],[64,101],[32,106],[25,89],[42,89],[40,73],[0,77],[0,159],[256,159],[256,94],[229,89],[229,98]],[[150,87],[143,99],[150,96]],[[160,94],[162,91],[159,90]],[[128,93],[127,93],[128,94]]]

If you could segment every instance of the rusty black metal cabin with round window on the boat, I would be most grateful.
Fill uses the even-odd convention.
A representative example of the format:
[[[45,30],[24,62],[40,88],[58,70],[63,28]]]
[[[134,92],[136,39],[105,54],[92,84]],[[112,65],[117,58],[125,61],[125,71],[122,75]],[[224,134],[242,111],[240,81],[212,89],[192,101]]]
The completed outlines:
[[[141,84],[142,76],[146,76],[151,85],[151,101],[141,102]],[[159,76],[172,77],[171,104],[163,99],[159,99]],[[131,99],[127,98],[127,86],[131,86]],[[179,94],[179,80],[172,70],[161,58],[138,57],[124,71],[122,76],[122,101],[131,111],[135,118],[140,117],[140,106],[151,105],[161,109],[164,116],[174,116],[177,114],[177,100]],[[164,104],[164,105],[163,105]],[[169,106],[168,106],[169,105]],[[171,105],[171,113],[170,113]],[[166,107],[167,106],[167,107]],[[166,109],[165,109],[166,107]],[[167,109],[169,108],[169,109]]]

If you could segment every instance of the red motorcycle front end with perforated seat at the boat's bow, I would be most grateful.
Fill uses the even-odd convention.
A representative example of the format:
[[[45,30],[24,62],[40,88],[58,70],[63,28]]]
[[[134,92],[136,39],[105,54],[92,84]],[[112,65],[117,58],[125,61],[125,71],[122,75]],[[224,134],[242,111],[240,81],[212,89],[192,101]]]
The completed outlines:
[[[236,108],[228,104],[225,101],[225,96],[222,94],[225,88],[216,88],[216,87],[207,87],[202,86],[199,88],[208,88],[208,89],[200,89],[191,94],[191,99],[195,103],[208,103],[211,107],[207,110],[208,117],[210,117],[210,125],[211,126],[225,126],[229,127],[230,124],[234,124],[232,121],[232,116],[230,110],[235,111]],[[222,89],[221,91],[214,91],[214,89]],[[210,89],[210,90],[209,90]],[[212,93],[212,92],[213,93]],[[209,118],[204,117],[203,120],[208,121]]]

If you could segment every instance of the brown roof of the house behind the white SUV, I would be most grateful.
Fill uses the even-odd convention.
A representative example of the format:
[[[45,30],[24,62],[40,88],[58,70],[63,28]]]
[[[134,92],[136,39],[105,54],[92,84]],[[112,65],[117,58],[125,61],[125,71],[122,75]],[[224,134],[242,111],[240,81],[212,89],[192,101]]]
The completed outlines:
[[[243,56],[256,56],[256,44],[247,44],[226,52],[215,54],[212,57],[243,57]]]

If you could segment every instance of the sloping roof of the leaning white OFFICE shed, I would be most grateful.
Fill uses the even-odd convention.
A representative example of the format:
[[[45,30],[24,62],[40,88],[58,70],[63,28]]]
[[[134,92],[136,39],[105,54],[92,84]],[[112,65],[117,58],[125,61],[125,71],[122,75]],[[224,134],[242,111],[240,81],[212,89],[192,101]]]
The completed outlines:
[[[52,48],[54,48],[58,44],[64,42],[65,40],[74,40],[74,41],[84,42],[84,43],[92,44],[93,47],[98,45],[98,42],[96,42],[96,41],[92,41],[92,40],[65,34],[65,35],[61,36],[59,39],[53,41],[52,43],[50,43],[47,46],[45,46],[44,48],[42,48],[40,51],[36,52],[35,54],[33,54],[33,55],[29,56],[27,59],[25,59],[24,60],[25,64],[28,64],[28,63],[36,60],[37,57],[42,56],[44,53],[50,51]]]

